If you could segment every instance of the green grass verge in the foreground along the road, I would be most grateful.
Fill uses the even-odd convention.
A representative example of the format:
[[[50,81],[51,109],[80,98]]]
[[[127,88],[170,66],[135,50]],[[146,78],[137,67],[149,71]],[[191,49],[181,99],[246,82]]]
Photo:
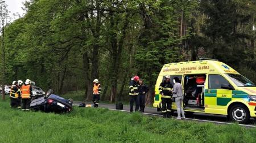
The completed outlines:
[[[108,109],[23,112],[0,101],[0,142],[255,142],[256,129],[147,117]]]

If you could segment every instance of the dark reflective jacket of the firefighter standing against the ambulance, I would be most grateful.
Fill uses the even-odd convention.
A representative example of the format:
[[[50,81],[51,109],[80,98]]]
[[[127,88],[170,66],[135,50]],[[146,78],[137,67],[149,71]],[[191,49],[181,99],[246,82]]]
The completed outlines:
[[[172,88],[174,88],[174,85],[164,80],[159,86],[159,93],[163,93],[162,98],[172,98]]]

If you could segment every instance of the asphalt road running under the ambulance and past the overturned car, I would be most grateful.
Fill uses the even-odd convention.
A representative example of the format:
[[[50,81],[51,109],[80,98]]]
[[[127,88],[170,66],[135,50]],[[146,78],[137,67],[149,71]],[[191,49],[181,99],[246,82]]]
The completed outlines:
[[[78,106],[80,101],[74,101],[73,105]],[[84,102],[85,103],[85,102]],[[86,102],[86,104],[93,104],[92,102]],[[99,107],[106,108],[109,110],[116,110],[114,104],[106,104],[106,103],[100,103]],[[135,108],[135,107],[134,107]],[[130,107],[128,105],[123,105],[123,110],[117,110],[117,111],[123,111],[123,112],[129,112]],[[162,113],[156,111],[156,108],[152,107],[146,107],[144,109],[144,115],[150,115],[150,116],[160,116],[162,117]],[[176,118],[177,113],[174,112],[172,115],[172,118]],[[225,115],[215,115],[215,114],[204,114],[204,113],[194,113],[194,114],[185,114],[186,120],[195,120],[197,122],[210,122],[210,123],[216,123],[216,124],[234,124],[226,118]],[[240,124],[244,127],[256,127],[256,120],[254,118],[250,119],[250,122],[248,124]]]

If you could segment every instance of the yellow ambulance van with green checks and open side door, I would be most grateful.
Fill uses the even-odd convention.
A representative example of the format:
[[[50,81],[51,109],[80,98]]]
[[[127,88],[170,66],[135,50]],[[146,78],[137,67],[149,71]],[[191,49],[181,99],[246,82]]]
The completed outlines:
[[[254,74],[254,73],[252,73]],[[154,107],[161,108],[159,85],[166,75],[179,77],[183,86],[183,109],[187,113],[228,115],[238,123],[256,117],[256,85],[227,64],[197,60],[164,64],[155,85]],[[172,110],[176,110],[172,103]]]

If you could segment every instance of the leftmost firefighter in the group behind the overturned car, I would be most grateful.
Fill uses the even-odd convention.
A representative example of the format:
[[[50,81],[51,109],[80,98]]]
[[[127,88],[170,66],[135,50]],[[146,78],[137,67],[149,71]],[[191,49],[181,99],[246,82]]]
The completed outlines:
[[[18,88],[18,82],[17,81],[13,81],[13,85],[11,85],[11,91],[10,91],[10,99],[11,99],[11,103],[10,106],[11,107],[18,107],[18,98],[20,97],[20,90]]]

